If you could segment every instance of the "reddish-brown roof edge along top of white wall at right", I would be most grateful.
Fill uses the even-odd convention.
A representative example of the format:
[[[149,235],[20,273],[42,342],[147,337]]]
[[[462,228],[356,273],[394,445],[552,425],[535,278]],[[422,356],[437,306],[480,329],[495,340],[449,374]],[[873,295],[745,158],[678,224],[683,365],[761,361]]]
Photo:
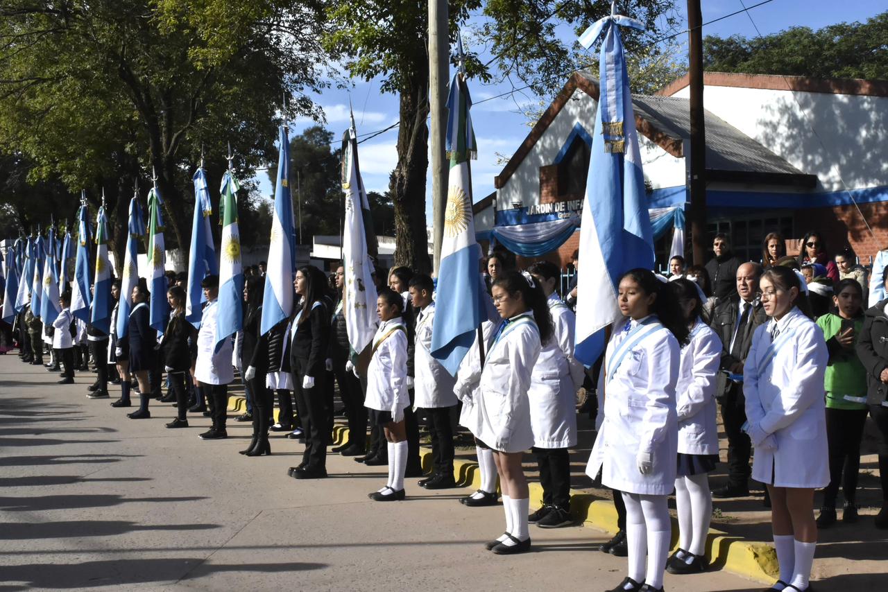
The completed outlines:
[[[686,74],[667,84],[658,95],[670,97],[690,83]],[[729,74],[704,72],[703,85],[729,86],[738,89],[766,89],[770,91],[821,92],[825,94],[888,97],[888,81],[860,78],[808,78],[768,74]]]

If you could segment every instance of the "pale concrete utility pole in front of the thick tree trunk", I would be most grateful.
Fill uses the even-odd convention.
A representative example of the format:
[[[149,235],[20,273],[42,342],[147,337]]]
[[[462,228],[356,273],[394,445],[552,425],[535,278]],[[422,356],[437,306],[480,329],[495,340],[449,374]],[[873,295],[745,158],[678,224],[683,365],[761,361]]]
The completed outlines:
[[[447,208],[448,169],[445,157],[447,133],[447,84],[450,40],[447,0],[428,0],[429,7],[429,107],[432,116],[429,147],[432,153],[433,270],[438,273]]]

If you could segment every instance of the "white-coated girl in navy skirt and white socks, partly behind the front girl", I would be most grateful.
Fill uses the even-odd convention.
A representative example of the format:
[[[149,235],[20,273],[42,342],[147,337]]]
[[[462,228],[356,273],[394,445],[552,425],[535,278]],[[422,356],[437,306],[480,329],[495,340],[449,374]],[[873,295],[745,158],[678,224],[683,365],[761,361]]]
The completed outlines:
[[[706,536],[710,531],[712,493],[709,473],[718,462],[716,377],[722,343],[702,319],[706,296],[691,280],[670,281],[691,331],[681,348],[675,387],[678,414],[678,476],[675,507],[678,510],[678,550],[667,564],[670,573],[703,572]]]

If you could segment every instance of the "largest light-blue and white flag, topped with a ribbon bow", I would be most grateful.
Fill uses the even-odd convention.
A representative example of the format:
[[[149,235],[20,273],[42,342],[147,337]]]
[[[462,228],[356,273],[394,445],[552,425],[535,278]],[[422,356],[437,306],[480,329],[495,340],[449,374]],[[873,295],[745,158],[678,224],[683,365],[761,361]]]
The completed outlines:
[[[586,200],[580,225],[575,356],[591,366],[605,349],[605,328],[622,315],[617,282],[622,273],[654,269],[654,234],[647,212],[635,115],[619,27],[642,30],[638,20],[611,14],[592,25],[580,43],[599,36],[599,108],[592,138]]]

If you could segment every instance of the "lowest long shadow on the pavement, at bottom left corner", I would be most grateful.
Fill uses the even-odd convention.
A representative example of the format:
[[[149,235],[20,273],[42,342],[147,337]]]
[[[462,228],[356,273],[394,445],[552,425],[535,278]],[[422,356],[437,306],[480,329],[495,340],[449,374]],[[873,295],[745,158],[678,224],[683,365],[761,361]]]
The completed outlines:
[[[305,572],[327,564],[203,564],[202,557],[117,559],[81,564],[27,564],[4,567],[4,580],[33,588],[65,589],[175,582],[219,572]],[[6,589],[22,589],[8,587]]]

